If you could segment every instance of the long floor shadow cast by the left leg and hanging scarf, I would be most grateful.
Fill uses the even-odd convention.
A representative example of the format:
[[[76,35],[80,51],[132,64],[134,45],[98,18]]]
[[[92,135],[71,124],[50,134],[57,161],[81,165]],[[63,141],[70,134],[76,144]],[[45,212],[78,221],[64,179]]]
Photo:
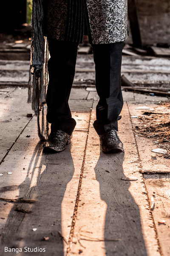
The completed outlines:
[[[61,207],[67,184],[74,174],[70,150],[71,145],[59,154],[45,155],[41,142],[35,147],[17,198],[36,201],[13,203],[3,229],[1,256],[16,255],[4,252],[5,246],[22,248],[22,253],[17,253],[20,256],[64,256]],[[30,253],[24,247],[37,249]],[[45,248],[45,253],[40,248]]]

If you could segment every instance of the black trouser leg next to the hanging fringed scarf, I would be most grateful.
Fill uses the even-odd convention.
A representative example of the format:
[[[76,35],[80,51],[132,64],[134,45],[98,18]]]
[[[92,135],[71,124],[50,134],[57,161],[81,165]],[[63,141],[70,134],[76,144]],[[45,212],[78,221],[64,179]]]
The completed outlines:
[[[48,39],[48,46],[51,58],[48,60],[47,121],[51,123],[51,129],[71,135],[76,121],[71,117],[68,99],[74,80],[78,44]]]

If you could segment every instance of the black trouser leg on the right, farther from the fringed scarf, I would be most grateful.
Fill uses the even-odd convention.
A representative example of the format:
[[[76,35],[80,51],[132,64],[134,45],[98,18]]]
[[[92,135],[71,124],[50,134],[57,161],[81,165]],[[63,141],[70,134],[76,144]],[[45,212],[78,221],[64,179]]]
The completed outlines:
[[[99,102],[96,106],[94,128],[101,135],[112,127],[118,130],[123,106],[121,91],[121,64],[124,42],[93,45],[96,69],[96,90]]]

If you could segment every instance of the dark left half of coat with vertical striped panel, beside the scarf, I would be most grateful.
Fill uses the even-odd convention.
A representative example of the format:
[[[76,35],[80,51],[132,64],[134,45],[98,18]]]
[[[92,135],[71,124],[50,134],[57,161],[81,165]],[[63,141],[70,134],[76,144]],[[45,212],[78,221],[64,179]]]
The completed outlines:
[[[84,35],[84,0],[43,0],[44,35],[81,43]]]

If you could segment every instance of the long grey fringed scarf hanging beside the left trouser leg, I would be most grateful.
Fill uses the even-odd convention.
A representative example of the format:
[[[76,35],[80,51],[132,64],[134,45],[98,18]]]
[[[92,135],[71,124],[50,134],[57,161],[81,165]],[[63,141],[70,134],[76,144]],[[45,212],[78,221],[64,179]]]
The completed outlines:
[[[32,103],[32,109],[37,115],[38,135],[41,141],[45,141],[48,137],[48,123],[45,122],[44,116],[44,105],[48,86],[48,41],[43,35],[42,23],[42,0],[33,0],[31,20],[31,59],[27,102]],[[42,115],[40,118],[41,110]]]

